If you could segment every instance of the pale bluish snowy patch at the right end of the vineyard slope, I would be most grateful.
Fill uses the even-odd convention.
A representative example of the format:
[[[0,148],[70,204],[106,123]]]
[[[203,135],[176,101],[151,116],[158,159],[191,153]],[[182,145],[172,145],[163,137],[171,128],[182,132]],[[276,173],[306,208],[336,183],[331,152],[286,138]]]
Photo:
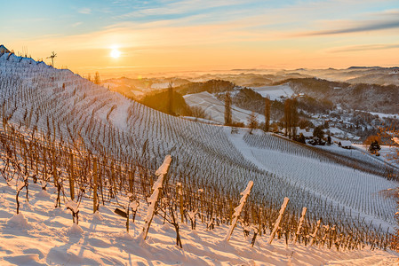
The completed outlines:
[[[397,182],[322,161],[316,156],[298,154],[294,146],[284,147],[283,140],[280,145],[253,145],[251,141],[245,141],[245,134],[246,131],[241,130],[237,134],[231,134],[230,139],[256,167],[275,173],[276,178],[283,178],[291,184],[305,187],[309,192],[331,200],[334,205],[346,207],[347,212],[361,215],[366,221],[381,224],[385,230],[395,228],[395,200],[385,199],[379,196],[379,192],[397,187]],[[251,135],[246,136],[251,138]],[[260,130],[255,130],[252,138],[265,138],[270,142],[278,140],[269,134],[261,133]]]

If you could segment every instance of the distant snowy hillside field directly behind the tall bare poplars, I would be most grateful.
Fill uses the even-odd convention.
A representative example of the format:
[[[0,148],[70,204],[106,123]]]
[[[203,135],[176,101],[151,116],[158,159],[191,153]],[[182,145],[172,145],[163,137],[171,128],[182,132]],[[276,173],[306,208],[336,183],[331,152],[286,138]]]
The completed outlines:
[[[199,106],[211,118],[212,121],[217,121],[221,124],[225,121],[225,103],[213,96],[208,91],[203,91],[195,94],[188,94],[184,96],[188,106]],[[237,106],[231,107],[232,120],[235,122],[248,123],[248,118],[251,111],[244,110]],[[257,113],[258,121],[265,121],[265,116]]]

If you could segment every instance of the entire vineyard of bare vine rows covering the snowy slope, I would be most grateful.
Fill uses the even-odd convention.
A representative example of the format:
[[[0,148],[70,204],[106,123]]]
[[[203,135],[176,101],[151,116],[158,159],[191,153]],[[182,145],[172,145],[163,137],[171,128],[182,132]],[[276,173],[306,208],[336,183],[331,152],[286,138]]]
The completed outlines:
[[[395,200],[379,192],[397,182],[387,180],[379,162],[342,160],[282,137],[232,134],[160,113],[68,70],[11,54],[0,54],[0,93],[0,172],[16,188],[17,214],[29,186],[39,184],[54,191],[54,207],[67,207],[73,223],[80,202],[92,200],[93,213],[118,207],[129,231],[138,207],[154,204],[156,169],[169,154],[154,211],[174,226],[178,246],[179,224],[214,230],[240,218],[253,243],[274,232],[287,244],[391,247]],[[290,201],[282,213],[284,198]]]

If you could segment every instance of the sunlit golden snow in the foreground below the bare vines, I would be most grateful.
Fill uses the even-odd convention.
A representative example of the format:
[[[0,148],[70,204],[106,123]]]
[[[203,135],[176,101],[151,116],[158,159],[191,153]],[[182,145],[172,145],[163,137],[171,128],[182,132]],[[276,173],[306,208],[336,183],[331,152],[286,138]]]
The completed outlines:
[[[145,202],[140,202],[136,221],[126,233],[124,218],[114,214],[115,202],[93,215],[92,201],[84,198],[79,225],[73,226],[68,209],[54,208],[53,188],[44,192],[40,185],[29,184],[29,202],[23,203],[20,215],[15,215],[14,197],[14,188],[0,179],[1,265],[394,265],[397,260],[396,253],[379,250],[337,252],[285,246],[277,239],[269,246],[267,236],[251,247],[241,226],[225,244],[221,240],[226,226],[207,231],[203,223],[196,231],[180,225],[180,249],[172,226],[158,217],[148,231],[148,241],[140,244]]]

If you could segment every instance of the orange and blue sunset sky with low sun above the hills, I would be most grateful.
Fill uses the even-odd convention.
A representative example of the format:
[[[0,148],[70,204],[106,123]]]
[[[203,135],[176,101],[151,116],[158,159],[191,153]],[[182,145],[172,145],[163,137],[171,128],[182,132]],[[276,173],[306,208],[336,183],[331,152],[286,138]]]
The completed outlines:
[[[4,4],[0,44],[79,74],[399,66],[397,0]]]

